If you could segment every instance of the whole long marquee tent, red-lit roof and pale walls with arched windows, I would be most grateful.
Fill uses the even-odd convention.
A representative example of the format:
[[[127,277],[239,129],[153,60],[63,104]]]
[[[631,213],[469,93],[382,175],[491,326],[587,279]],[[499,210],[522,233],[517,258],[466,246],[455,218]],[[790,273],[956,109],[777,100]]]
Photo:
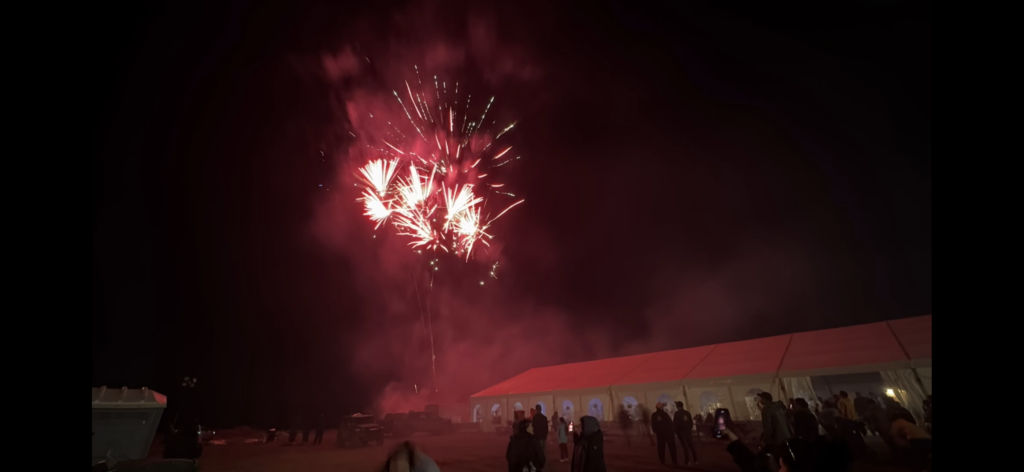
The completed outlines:
[[[549,418],[612,421],[620,405],[635,415],[638,405],[652,412],[666,402],[671,414],[678,400],[694,414],[727,407],[735,420],[759,420],[760,391],[813,407],[824,396],[814,384],[866,373],[881,379],[878,393],[921,417],[932,393],[932,316],[530,369],[472,395],[470,418],[493,431],[536,404]]]

